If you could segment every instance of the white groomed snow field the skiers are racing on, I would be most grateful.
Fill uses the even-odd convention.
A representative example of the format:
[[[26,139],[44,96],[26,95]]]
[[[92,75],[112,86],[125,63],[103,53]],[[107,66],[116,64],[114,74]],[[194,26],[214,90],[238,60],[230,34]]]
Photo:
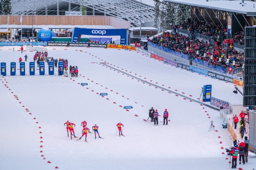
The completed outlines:
[[[241,101],[242,96],[232,92],[234,84],[164,64],[136,51],[79,47],[47,47],[48,57],[67,58],[69,65],[78,66],[77,78],[58,76],[57,68],[56,75],[50,76],[47,64],[46,75],[40,76],[37,68],[35,76],[9,76],[10,62],[16,62],[18,69],[19,57],[24,60],[25,54],[29,74],[35,52],[21,53],[18,48],[0,47],[0,62],[7,63],[7,76],[0,78],[0,170],[49,170],[56,166],[61,170],[230,169],[229,156],[221,147],[232,146],[232,139],[222,128],[218,111],[100,62],[193,99],[200,97],[201,87],[212,84],[213,97]],[[78,84],[82,82],[88,86]],[[124,106],[133,109],[126,111]],[[151,107],[161,115],[159,126],[143,121]],[[162,122],[165,109],[169,111],[168,125]],[[68,120],[76,124],[76,136],[82,135],[80,122],[85,120],[90,129],[97,124],[104,139],[95,140],[88,133],[88,143],[84,136],[79,141],[70,140],[63,125]],[[116,134],[119,121],[124,124],[126,137]],[[210,121],[218,132],[210,130]],[[256,156],[249,154],[249,163],[238,164],[237,169],[252,170],[255,166]]]

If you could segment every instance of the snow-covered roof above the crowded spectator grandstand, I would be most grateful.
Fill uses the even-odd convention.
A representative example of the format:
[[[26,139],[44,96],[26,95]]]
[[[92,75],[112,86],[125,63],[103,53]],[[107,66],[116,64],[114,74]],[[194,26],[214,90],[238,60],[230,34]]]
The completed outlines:
[[[245,1],[244,6],[240,4],[242,2],[241,0],[165,0],[165,2],[241,13],[246,14],[247,16],[256,16],[256,2],[252,1]]]

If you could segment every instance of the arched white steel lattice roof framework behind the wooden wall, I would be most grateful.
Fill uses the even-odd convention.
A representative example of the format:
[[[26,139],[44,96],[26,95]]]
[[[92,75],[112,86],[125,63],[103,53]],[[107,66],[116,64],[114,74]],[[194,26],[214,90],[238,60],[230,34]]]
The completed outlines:
[[[131,22],[132,27],[153,21],[153,6],[136,0],[11,0],[12,15],[65,15],[82,11],[85,15],[113,16]]]

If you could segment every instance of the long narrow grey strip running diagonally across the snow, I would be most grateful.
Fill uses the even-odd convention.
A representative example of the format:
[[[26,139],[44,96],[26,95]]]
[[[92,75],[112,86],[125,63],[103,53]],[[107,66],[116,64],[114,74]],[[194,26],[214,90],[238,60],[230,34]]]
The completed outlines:
[[[205,104],[205,103],[200,102],[200,101],[197,101],[197,100],[195,100],[195,99],[191,99],[190,97],[187,97],[187,96],[182,95],[182,94],[180,94],[180,93],[177,93],[177,92],[175,92],[175,91],[168,90],[168,89],[166,89],[166,88],[163,88],[163,87],[158,86],[158,85],[156,85],[156,84],[150,83],[150,82],[145,81],[145,80],[143,80],[143,79],[139,79],[138,77],[135,77],[135,76],[133,76],[133,75],[131,75],[131,74],[128,74],[128,73],[126,73],[126,72],[124,72],[124,71],[121,71],[120,69],[113,68],[113,67],[109,66],[108,64],[106,64],[106,63],[104,63],[104,62],[100,62],[100,64],[103,64],[104,66],[107,66],[107,67],[112,68],[112,69],[115,69],[115,70],[117,70],[117,71],[119,71],[119,72],[121,72],[121,73],[124,73],[124,74],[126,74],[126,75],[129,75],[130,77],[133,77],[134,79],[137,79],[137,80],[140,80],[140,81],[145,82],[145,83],[147,83],[147,84],[150,84],[151,86],[155,86],[155,87],[158,87],[158,88],[160,88],[160,89],[162,89],[162,90],[169,91],[169,92],[171,92],[171,93],[174,93],[174,94],[176,94],[176,95],[179,95],[179,96],[184,97],[184,98],[186,98],[186,99],[189,99],[189,100],[191,100],[191,101],[194,101],[194,102],[197,102],[197,103],[202,104],[202,105],[204,105],[204,106],[207,106],[207,107],[209,107],[209,108],[211,108],[211,109],[219,110],[219,108],[215,108],[215,107],[213,107],[213,106],[211,106],[211,105]]]

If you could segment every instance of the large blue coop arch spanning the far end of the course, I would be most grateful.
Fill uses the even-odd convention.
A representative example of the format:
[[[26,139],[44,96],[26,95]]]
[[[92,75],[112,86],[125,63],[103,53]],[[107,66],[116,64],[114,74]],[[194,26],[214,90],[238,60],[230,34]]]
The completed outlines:
[[[121,40],[120,44],[126,43],[126,29],[91,29],[91,28],[77,28],[75,27],[72,32],[72,42],[80,42],[81,35],[96,35],[96,36],[117,36],[119,35]]]

